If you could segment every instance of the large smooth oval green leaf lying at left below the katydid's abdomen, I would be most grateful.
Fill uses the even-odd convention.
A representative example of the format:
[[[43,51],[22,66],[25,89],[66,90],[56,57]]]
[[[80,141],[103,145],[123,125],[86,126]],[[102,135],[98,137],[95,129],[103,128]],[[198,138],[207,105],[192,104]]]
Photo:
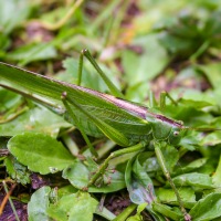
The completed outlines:
[[[11,154],[32,171],[42,175],[63,170],[74,157],[56,139],[34,133],[23,133],[8,143]]]

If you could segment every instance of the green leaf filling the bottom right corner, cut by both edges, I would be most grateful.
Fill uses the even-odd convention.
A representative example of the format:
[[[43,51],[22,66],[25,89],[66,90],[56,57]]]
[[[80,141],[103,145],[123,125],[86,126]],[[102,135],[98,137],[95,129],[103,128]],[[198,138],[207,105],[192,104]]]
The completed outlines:
[[[221,217],[221,193],[210,193],[199,200],[189,214],[194,221],[209,221]]]

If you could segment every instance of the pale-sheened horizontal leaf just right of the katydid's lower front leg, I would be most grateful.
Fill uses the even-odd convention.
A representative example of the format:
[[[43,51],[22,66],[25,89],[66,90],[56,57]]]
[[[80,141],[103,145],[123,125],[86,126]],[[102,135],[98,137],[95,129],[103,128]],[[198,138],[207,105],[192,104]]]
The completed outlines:
[[[180,175],[175,177],[172,181],[177,187],[213,188],[212,178],[199,172]]]

